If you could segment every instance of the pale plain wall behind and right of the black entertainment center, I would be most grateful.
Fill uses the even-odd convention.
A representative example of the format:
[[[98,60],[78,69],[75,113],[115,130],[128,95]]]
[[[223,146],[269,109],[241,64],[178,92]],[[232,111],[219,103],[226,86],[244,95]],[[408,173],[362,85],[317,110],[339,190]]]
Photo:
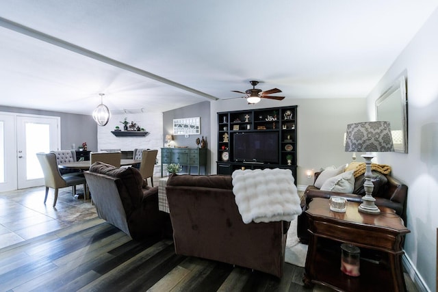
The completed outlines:
[[[298,105],[297,184],[302,187],[311,185],[313,176],[307,178],[307,170],[318,171],[328,165],[338,166],[351,161],[352,153],[344,151],[344,133],[347,124],[368,119],[365,101],[364,97],[285,98],[283,101],[262,100],[257,105],[248,105],[243,98],[211,102],[211,143],[209,144],[211,173],[216,174],[218,141],[216,113]]]

